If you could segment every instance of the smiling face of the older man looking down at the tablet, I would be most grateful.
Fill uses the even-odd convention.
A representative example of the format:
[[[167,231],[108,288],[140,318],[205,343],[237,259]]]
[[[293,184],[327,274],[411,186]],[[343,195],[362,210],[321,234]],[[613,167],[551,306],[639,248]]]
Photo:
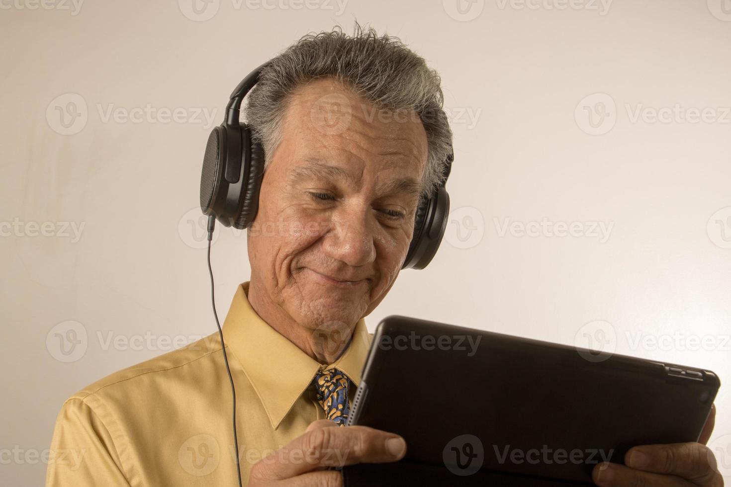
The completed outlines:
[[[427,158],[423,124],[321,79],[291,96],[282,135],[248,233],[252,284],[300,326],[350,328],[406,258]]]

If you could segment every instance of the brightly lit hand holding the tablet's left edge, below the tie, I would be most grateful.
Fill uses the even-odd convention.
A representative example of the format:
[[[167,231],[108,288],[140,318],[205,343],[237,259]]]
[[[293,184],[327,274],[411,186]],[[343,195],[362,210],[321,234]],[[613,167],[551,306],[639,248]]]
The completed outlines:
[[[327,419],[314,421],[305,434],[251,468],[249,487],[343,485],[328,467],[397,461],[406,453],[404,438],[366,426],[341,427]]]

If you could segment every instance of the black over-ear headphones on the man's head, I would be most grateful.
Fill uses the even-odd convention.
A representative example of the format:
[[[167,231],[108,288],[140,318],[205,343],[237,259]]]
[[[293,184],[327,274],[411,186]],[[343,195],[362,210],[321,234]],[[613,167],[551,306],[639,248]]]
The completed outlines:
[[[241,101],[259,80],[262,64],[231,93],[224,123],[208,136],[200,175],[200,209],[223,226],[246,229],[257,215],[264,176],[264,148],[251,137],[251,129],[239,122]],[[444,184],[452,169],[454,153],[444,162],[444,183],[429,199],[421,198],[414,217],[414,235],[401,269],[423,269],[436,254],[447,228],[450,195]]]

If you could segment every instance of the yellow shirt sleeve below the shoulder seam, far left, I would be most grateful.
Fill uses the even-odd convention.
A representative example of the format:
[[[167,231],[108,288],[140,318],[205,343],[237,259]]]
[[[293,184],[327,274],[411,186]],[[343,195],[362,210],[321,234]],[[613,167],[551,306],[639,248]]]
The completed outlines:
[[[58,413],[46,487],[129,487],[107,426],[83,399],[69,399]]]

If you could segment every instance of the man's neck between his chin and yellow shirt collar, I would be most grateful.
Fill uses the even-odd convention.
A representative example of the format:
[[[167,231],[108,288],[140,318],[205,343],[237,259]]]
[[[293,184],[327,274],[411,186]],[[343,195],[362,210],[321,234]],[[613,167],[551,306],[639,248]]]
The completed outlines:
[[[249,304],[269,326],[283,337],[294,343],[297,348],[320,364],[332,364],[347,350],[355,325],[349,329],[322,329],[314,326],[303,326],[298,323],[281,305],[273,302],[266,288],[251,276]]]

